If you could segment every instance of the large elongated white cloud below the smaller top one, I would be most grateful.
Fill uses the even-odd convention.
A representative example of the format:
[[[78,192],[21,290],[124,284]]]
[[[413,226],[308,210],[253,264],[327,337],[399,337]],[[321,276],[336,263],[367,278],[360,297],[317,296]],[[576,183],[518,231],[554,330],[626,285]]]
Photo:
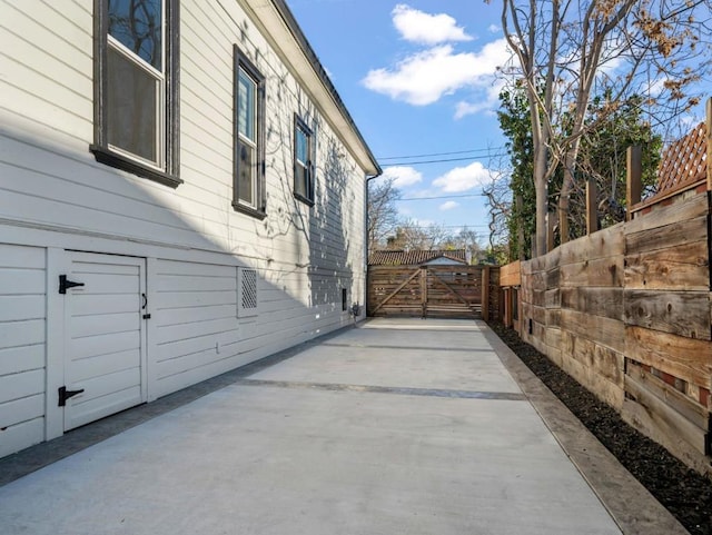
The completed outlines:
[[[507,59],[504,39],[485,44],[478,53],[456,53],[444,44],[409,56],[393,69],[372,70],[363,83],[394,100],[426,106],[465,87],[492,87],[497,67]]]

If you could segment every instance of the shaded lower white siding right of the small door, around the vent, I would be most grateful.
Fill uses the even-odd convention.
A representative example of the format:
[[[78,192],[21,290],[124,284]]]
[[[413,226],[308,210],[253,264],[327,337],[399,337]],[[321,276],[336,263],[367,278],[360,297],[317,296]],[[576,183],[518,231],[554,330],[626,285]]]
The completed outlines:
[[[236,317],[235,267],[162,260],[157,271],[156,347],[150,357],[156,377],[150,388],[157,396],[339,328],[347,320],[336,279],[329,284],[337,300],[309,306],[287,291],[305,284],[305,274],[288,276],[291,280],[283,287],[260,277],[258,315],[244,320]]]

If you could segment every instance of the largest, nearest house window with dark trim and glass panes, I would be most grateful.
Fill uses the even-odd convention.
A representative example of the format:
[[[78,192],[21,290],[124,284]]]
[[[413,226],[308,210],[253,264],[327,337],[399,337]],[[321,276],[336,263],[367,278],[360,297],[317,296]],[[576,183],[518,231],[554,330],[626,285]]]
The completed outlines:
[[[179,168],[178,0],[95,0],[97,161],[170,187]]]

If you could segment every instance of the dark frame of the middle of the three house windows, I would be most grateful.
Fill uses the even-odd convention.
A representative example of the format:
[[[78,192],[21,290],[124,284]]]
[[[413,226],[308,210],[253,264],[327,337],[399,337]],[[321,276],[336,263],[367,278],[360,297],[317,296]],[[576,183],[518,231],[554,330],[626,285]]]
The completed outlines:
[[[267,196],[265,181],[265,77],[257,67],[243,53],[237,44],[233,46],[233,208],[257,219],[267,217]],[[257,177],[255,179],[255,191],[253,192],[255,206],[240,202],[239,192],[239,131],[238,131],[238,98],[239,98],[239,72],[243,70],[254,82],[257,89],[255,106],[257,107]]]

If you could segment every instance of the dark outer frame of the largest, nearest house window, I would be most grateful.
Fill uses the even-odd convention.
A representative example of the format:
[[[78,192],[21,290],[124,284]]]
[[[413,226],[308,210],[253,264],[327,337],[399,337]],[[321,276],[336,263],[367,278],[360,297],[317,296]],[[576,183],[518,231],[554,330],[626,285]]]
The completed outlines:
[[[109,8],[106,0],[93,2],[93,143],[89,150],[96,160],[132,172],[158,184],[177,188],[182,184],[180,169],[180,95],[179,95],[179,0],[165,0],[165,96],[164,96],[164,159],[162,170],[145,165],[112,150],[108,142],[108,108],[106,105],[109,76],[107,67]]]

